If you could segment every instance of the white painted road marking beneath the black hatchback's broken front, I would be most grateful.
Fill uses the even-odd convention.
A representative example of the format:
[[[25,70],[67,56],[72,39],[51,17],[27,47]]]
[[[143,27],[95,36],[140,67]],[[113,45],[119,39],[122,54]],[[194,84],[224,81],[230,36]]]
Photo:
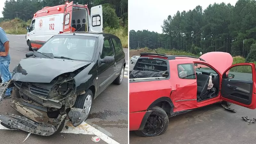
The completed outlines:
[[[1,122],[1,121],[0,121]],[[98,136],[101,140],[104,140],[108,144],[119,144],[116,142],[116,140],[111,139],[108,137],[106,134],[103,132],[100,132],[90,124],[83,122],[77,127],[74,127],[70,122],[67,122],[66,125],[68,126],[68,129],[65,127],[62,129],[61,133],[74,133],[74,134],[85,134],[85,135],[96,135]],[[2,124],[0,124],[0,129],[4,130],[13,130],[13,129],[8,129],[4,127]]]

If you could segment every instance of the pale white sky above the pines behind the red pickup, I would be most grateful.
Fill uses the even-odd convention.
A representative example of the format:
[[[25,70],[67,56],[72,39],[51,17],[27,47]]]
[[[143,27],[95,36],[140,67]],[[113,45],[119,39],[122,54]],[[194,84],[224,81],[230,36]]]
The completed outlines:
[[[204,10],[209,4],[222,2],[235,5],[237,0],[129,0],[128,29],[162,33],[161,25],[168,15],[173,16],[177,11],[193,10],[197,5]]]

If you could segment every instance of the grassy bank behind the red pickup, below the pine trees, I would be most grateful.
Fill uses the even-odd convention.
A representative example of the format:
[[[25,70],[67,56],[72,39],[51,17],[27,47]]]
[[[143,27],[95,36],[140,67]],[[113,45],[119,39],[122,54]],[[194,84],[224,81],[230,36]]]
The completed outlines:
[[[167,55],[189,55],[189,56],[196,56],[200,57],[200,55],[195,55],[190,52],[184,52],[184,51],[178,51],[178,50],[168,50],[168,49],[163,49],[163,48],[157,48],[156,52],[153,49],[149,49],[147,47],[145,48],[140,48],[136,50],[130,50],[129,51],[129,56],[132,57],[134,55],[140,55],[142,52],[150,52],[150,53],[160,53],[160,54],[167,54]],[[245,63],[245,58],[241,56],[235,56],[233,57],[233,65],[238,64],[238,63]],[[252,62],[256,64],[256,62]],[[250,66],[237,66],[234,68],[231,68],[230,71],[234,72],[243,72],[243,73],[252,73],[252,68]]]

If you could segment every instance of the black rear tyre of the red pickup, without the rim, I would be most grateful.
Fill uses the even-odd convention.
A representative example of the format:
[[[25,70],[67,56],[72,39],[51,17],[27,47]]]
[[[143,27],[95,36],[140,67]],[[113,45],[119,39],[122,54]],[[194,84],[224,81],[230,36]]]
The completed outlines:
[[[164,111],[164,109],[160,108],[160,107],[157,107],[157,106],[154,106],[153,108],[150,108],[149,110],[152,110],[152,113],[149,115],[148,119],[147,119],[147,122],[144,126],[144,129],[143,130],[139,130],[139,131],[135,131],[136,135],[140,136],[140,137],[152,137],[152,136],[158,136],[158,135],[161,135],[163,134],[168,125],[169,125],[169,119],[168,119],[168,116],[166,114],[166,112]],[[160,122],[160,127],[162,125],[162,127],[160,128],[160,130],[158,132],[155,132],[154,134],[147,134],[147,129],[145,128],[149,122],[149,119],[151,119],[151,123],[152,122],[152,117],[153,116],[158,116],[160,118],[160,120],[158,122]],[[151,125],[152,126],[152,125]],[[149,126],[150,127],[150,126]]]

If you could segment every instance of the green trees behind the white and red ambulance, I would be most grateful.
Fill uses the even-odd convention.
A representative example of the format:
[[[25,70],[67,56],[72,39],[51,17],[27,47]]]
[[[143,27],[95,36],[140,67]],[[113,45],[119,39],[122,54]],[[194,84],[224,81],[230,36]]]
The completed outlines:
[[[69,0],[69,2],[72,0]],[[4,19],[20,18],[31,20],[34,13],[45,6],[65,4],[66,0],[7,0],[2,12]],[[74,0],[74,3],[88,4],[91,7],[102,4],[104,26],[117,28],[128,25],[128,0]]]

